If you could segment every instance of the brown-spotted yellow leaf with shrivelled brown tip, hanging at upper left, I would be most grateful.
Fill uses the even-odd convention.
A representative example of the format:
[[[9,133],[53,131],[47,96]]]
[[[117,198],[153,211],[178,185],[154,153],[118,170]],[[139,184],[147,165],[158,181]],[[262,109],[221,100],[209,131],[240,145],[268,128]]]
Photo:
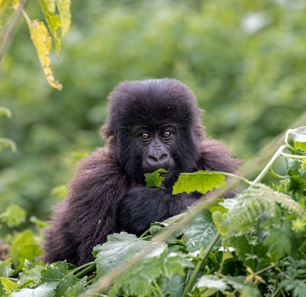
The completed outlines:
[[[52,76],[51,61],[49,57],[51,37],[48,33],[47,27],[39,20],[30,20],[24,11],[23,14],[28,22],[31,39],[37,51],[40,64],[43,66],[43,72],[46,75],[47,81],[50,86],[62,90],[63,86],[59,82],[54,81],[54,77]]]

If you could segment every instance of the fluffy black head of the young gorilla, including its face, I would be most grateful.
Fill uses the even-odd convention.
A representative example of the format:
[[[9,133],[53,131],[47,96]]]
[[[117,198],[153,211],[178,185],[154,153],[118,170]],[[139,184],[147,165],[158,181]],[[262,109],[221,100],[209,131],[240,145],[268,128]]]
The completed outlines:
[[[201,110],[187,86],[175,79],[124,82],[109,96],[109,117],[102,132],[126,173],[144,183],[144,173],[159,168],[165,186],[200,158]]]

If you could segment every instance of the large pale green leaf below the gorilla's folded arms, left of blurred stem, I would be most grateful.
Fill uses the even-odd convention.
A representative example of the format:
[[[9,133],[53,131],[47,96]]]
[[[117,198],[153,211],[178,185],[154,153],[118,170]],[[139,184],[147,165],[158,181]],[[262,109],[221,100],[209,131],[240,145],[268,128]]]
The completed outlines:
[[[121,232],[107,236],[107,242],[96,246],[93,255],[96,257],[97,275],[99,278],[109,275],[111,271],[125,265],[127,259],[148,247],[151,242],[137,238],[134,234]]]

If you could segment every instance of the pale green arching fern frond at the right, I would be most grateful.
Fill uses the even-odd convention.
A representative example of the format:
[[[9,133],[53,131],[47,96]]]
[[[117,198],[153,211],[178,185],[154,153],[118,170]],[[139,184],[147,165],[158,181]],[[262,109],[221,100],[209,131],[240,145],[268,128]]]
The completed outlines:
[[[246,189],[236,198],[238,203],[227,213],[227,218],[222,226],[229,226],[229,229],[242,231],[248,229],[255,221],[267,215],[276,218],[278,204],[297,217],[306,215],[304,208],[291,197],[274,191],[263,184],[256,184]]]

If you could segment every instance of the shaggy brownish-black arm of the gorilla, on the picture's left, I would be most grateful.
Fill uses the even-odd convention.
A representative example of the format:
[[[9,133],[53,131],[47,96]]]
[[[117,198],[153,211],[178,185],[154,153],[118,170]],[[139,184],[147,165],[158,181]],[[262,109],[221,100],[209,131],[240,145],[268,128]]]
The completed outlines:
[[[70,191],[54,209],[53,226],[44,230],[44,261],[82,265],[93,261],[92,248],[117,232],[118,204],[129,183],[107,149],[84,158]]]

